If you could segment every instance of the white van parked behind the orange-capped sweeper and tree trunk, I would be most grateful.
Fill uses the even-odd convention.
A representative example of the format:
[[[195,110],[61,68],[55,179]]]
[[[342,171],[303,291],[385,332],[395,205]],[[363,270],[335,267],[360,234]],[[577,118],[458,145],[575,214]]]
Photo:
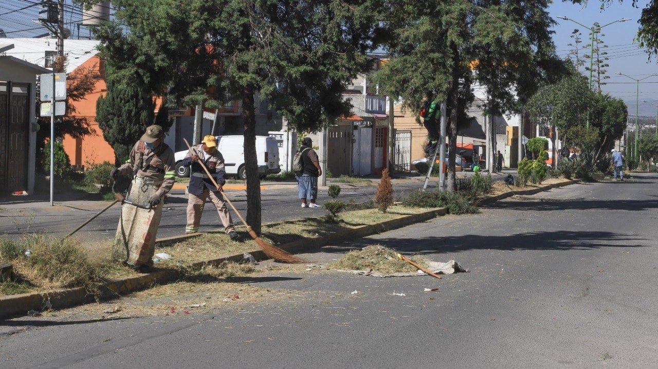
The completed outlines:
[[[226,174],[243,180],[246,179],[244,136],[218,135],[215,137],[217,139],[217,149],[224,157]],[[174,160],[176,160],[176,176],[178,177],[190,176],[190,167],[183,166],[183,159],[186,155],[188,155],[188,150],[178,151],[174,157]],[[256,136],[256,157],[258,158],[258,174],[261,179],[268,174],[281,172],[279,147],[276,145],[274,137]]]

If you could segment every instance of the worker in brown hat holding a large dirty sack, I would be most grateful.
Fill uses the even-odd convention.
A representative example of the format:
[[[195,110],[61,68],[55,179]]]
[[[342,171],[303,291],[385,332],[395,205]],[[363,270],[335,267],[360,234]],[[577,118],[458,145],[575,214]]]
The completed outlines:
[[[163,198],[176,178],[174,165],[174,151],[164,143],[163,128],[154,124],[146,128],[134,145],[128,161],[111,172],[113,178],[117,174],[132,174],[133,177],[122,206],[116,238],[126,247],[127,255],[122,261],[136,268],[153,266]]]

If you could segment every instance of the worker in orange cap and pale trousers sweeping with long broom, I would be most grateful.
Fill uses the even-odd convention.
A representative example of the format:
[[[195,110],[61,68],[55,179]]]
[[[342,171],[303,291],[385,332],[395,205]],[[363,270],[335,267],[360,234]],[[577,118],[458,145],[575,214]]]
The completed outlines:
[[[199,145],[191,147],[192,153],[188,151],[185,159],[183,159],[184,166],[190,166],[190,185],[188,192],[188,224],[185,227],[186,234],[193,234],[199,232],[199,223],[201,223],[201,214],[203,214],[203,207],[205,206],[206,199],[210,198],[217,209],[219,219],[224,225],[224,232],[228,234],[230,239],[236,241],[240,238],[236,227],[233,225],[231,214],[226,208],[226,201],[222,196],[222,186],[226,183],[224,180],[224,157],[222,153],[217,150],[217,141],[214,135],[207,135],[203,137],[203,142]],[[219,187],[215,187],[211,178],[203,170],[199,161],[205,164],[208,172],[215,178],[215,182]]]

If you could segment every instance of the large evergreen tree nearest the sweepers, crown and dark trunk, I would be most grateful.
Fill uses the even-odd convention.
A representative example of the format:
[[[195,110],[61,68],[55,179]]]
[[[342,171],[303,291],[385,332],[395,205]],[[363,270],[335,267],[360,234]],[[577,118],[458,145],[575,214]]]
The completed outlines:
[[[347,114],[342,92],[368,70],[378,3],[116,0],[115,21],[97,36],[120,80],[189,105],[241,102],[247,223],[259,233],[255,93],[297,130],[316,131]]]

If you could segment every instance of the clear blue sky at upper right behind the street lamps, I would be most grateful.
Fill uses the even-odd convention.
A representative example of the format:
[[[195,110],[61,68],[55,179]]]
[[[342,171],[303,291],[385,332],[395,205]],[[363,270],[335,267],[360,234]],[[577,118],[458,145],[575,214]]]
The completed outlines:
[[[646,6],[646,1],[638,1],[640,9],[632,7],[632,0],[624,0],[623,3],[613,3],[609,7],[601,10],[601,2],[599,0],[590,0],[587,5],[574,5],[572,3],[563,3],[559,0],[555,1],[549,7],[549,13],[558,22],[553,28],[553,41],[555,42],[555,49],[560,57],[566,57],[573,47],[569,43],[573,43],[570,37],[571,32],[578,28],[582,34],[583,43],[580,46],[588,45],[590,43],[590,30],[585,29],[570,20],[562,20],[555,18],[557,16],[567,16],[586,26],[592,27],[594,22],[598,22],[600,26],[614,22],[622,18],[630,18],[626,22],[617,22],[609,26],[605,26],[599,34],[599,39],[605,41],[608,45],[607,51],[609,60],[607,61],[610,66],[607,69],[609,79],[605,80],[607,84],[601,86],[601,89],[610,93],[613,97],[622,99],[628,105],[628,114],[635,116],[636,109],[636,87],[638,85],[634,80],[628,77],[620,76],[617,72],[621,72],[631,76],[632,78],[641,79],[651,74],[658,73],[657,58],[652,57],[651,61],[647,59],[647,54],[644,49],[640,49],[638,43],[634,43],[633,39],[636,36],[639,28],[638,20],[642,14],[642,9]],[[604,35],[604,36],[601,36]],[[589,49],[580,51],[580,55],[584,53],[589,54]],[[589,60],[586,61],[589,66]],[[584,68],[581,71],[589,76]],[[640,116],[655,116],[656,107],[642,103],[642,100],[649,101],[658,105],[658,76],[649,77],[640,82]]]

